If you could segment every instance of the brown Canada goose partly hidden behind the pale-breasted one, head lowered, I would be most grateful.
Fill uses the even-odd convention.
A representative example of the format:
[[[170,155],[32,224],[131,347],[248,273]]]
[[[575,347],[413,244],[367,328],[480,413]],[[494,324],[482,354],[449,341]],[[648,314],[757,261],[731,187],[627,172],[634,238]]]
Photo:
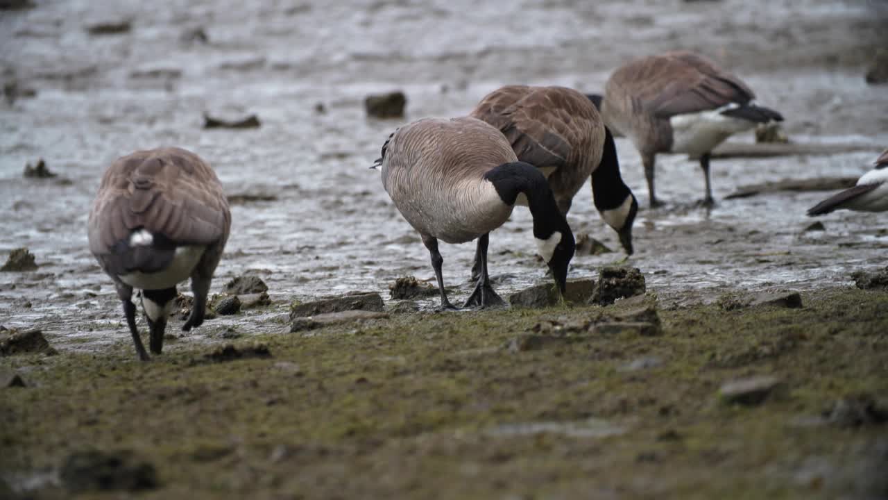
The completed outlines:
[[[562,214],[567,215],[591,177],[595,208],[617,232],[626,254],[632,254],[638,201],[622,181],[614,137],[583,93],[558,86],[507,85],[488,93],[471,116],[496,126],[519,161],[543,172]]]

